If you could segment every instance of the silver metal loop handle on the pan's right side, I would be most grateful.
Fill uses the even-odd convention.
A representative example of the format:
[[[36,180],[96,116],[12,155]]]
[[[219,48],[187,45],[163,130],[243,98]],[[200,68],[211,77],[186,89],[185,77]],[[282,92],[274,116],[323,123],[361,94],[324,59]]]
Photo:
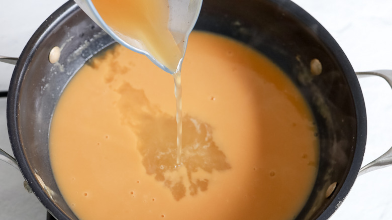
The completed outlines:
[[[371,71],[371,72],[357,72],[356,73],[358,77],[361,76],[369,76],[369,75],[375,75],[375,76],[380,76],[383,79],[385,79],[389,86],[392,88],[392,70],[376,70],[376,71]],[[358,176],[365,174],[367,172],[381,169],[387,166],[392,165],[392,147],[386,151],[383,155],[378,157],[377,159],[373,160],[372,162],[366,164],[359,170]]]

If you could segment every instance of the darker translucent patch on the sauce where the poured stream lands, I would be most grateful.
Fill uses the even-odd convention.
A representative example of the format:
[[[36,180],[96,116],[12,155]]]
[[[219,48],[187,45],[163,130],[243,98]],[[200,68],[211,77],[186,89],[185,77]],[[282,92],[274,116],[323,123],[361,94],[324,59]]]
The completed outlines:
[[[127,82],[116,91],[121,95],[117,106],[122,123],[138,137],[137,149],[146,173],[163,182],[175,200],[206,191],[213,170],[231,168],[225,154],[213,141],[211,126],[188,115],[182,118],[181,164],[177,165],[175,116],[150,104],[143,90],[135,89]],[[192,175],[195,172],[198,172],[197,177]]]

